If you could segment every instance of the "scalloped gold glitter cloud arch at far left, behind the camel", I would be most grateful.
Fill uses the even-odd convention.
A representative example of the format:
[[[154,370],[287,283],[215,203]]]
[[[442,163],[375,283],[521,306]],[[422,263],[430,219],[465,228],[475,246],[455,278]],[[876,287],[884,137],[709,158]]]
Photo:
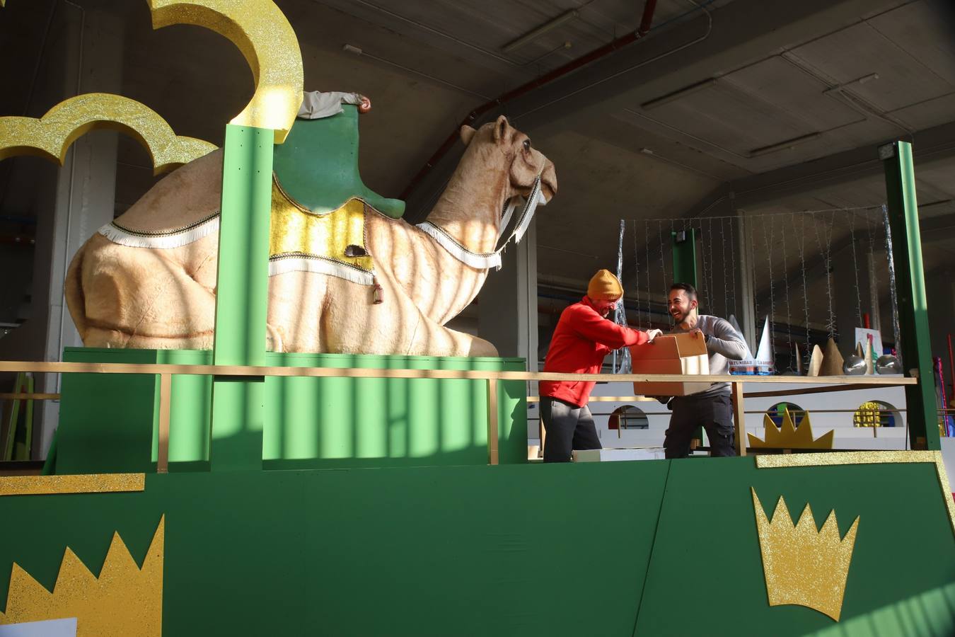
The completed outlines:
[[[216,150],[202,139],[177,137],[166,120],[135,99],[107,93],[71,97],[43,117],[0,117],[0,159],[38,155],[63,164],[77,138],[110,129],[138,139],[159,175]]]

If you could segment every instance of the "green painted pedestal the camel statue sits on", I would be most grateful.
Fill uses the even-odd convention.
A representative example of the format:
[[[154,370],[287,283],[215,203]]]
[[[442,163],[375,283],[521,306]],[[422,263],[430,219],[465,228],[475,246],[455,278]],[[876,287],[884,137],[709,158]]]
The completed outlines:
[[[208,365],[207,350],[68,348],[64,360]],[[438,358],[269,352],[269,366],[525,371],[519,358]],[[173,377],[170,471],[209,460],[208,376]],[[527,457],[526,390],[499,383],[501,463]],[[154,471],[159,379],[64,374],[56,472]],[[487,463],[484,381],[384,378],[265,380],[265,468]],[[218,440],[216,432],[212,439]]]

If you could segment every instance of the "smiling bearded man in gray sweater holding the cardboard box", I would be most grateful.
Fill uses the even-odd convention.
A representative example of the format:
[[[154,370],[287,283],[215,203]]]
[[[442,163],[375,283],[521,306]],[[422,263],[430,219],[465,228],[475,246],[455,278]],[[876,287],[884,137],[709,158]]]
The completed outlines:
[[[729,321],[716,316],[700,315],[696,289],[690,284],[675,283],[669,288],[668,309],[676,322],[671,334],[697,332],[706,340],[710,354],[710,373],[730,372],[731,360],[742,360],[746,344]],[[663,446],[667,457],[690,456],[690,439],[697,427],[707,430],[711,456],[735,456],[733,447],[732,402],[730,383],[715,383],[710,389],[688,396],[674,396],[669,401],[673,414]]]

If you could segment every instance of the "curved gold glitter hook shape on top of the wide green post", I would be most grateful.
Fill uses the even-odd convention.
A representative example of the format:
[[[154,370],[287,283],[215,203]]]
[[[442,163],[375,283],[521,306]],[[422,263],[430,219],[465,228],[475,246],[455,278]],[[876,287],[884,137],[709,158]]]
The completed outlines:
[[[255,79],[255,95],[230,123],[275,131],[286,140],[302,105],[305,74],[298,37],[272,0],[149,0],[153,29],[190,24],[239,47]]]

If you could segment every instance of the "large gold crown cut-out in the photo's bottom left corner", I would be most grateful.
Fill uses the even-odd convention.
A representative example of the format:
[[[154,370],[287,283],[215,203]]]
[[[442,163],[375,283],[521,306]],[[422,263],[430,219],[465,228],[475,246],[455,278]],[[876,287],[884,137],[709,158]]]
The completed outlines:
[[[13,563],[7,611],[0,626],[76,618],[77,637],[159,637],[165,516],[139,568],[118,533],[96,577],[67,547],[53,592]]]

